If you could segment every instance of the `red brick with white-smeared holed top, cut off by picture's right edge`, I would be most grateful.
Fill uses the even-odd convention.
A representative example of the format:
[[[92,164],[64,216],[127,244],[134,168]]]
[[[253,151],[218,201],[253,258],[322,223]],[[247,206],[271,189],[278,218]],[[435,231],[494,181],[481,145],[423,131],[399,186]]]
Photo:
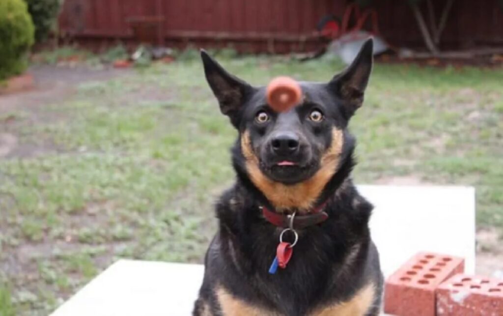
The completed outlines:
[[[457,274],[436,291],[437,315],[503,315],[503,280]]]

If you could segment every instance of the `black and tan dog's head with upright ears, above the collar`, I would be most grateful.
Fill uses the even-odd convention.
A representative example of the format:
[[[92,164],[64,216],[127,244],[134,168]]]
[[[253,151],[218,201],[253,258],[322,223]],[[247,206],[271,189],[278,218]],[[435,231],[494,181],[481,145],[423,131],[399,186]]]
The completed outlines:
[[[234,166],[277,208],[307,209],[337,173],[354,141],[347,125],[362,105],[372,69],[372,40],[328,83],[301,82],[302,102],[269,107],[266,87],[252,87],[202,51],[206,79],[239,131]]]

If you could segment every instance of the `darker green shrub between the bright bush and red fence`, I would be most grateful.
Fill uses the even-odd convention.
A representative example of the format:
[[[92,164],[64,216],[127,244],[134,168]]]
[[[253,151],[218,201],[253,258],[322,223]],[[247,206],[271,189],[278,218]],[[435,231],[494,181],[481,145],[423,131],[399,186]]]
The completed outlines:
[[[61,0],[25,0],[35,25],[35,40],[43,42],[56,26]]]

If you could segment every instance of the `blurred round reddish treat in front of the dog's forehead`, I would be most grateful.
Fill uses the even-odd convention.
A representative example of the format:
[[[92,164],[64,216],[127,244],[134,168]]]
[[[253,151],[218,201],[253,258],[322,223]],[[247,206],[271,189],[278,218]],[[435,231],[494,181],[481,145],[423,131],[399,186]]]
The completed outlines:
[[[286,112],[300,103],[302,91],[290,77],[276,77],[267,86],[267,102],[276,112]]]

